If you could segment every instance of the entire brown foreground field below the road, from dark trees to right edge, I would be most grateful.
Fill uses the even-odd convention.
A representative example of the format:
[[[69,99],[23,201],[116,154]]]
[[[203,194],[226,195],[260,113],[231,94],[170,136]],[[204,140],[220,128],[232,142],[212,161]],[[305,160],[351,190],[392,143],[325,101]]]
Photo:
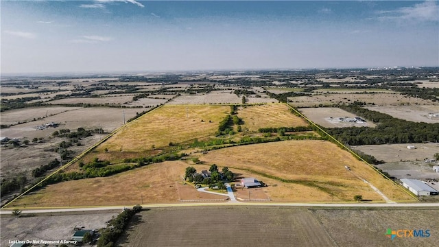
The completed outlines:
[[[140,213],[120,246],[436,246],[437,209],[189,207]],[[385,236],[387,228],[430,229],[430,237]],[[220,234],[219,234],[220,233]]]

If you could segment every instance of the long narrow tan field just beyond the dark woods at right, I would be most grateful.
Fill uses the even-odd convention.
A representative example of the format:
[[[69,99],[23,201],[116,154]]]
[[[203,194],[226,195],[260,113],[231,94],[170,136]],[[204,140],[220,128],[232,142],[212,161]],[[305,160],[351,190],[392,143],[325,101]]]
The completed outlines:
[[[289,97],[289,103],[298,107],[313,107],[332,104],[350,104],[354,101],[366,102],[377,106],[400,106],[400,105],[439,105],[439,102],[431,102],[427,99],[401,95],[399,93],[329,93],[323,95]]]

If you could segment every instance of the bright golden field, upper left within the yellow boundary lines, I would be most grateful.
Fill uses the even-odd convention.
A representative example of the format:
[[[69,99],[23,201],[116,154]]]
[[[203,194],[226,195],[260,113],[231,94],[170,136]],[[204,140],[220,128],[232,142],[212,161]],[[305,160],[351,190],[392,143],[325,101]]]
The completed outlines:
[[[230,106],[163,106],[132,121],[97,150],[145,152],[152,150],[152,145],[160,148],[169,142],[208,137],[229,112]]]

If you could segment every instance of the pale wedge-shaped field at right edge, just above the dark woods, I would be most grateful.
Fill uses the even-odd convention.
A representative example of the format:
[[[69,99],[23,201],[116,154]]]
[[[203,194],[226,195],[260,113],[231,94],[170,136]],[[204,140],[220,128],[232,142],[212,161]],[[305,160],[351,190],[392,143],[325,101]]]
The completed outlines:
[[[366,108],[407,121],[439,123],[439,117],[429,117],[429,113],[439,113],[439,106],[366,106]]]

